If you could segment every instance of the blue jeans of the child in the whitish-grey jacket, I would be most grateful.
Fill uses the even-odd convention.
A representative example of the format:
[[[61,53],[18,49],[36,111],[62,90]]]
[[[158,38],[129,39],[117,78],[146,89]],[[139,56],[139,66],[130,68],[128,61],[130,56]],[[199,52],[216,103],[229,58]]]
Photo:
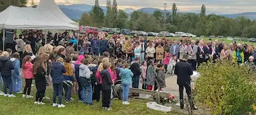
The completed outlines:
[[[86,92],[88,92],[88,102]],[[82,102],[92,103],[92,84],[88,86],[82,86]]]

